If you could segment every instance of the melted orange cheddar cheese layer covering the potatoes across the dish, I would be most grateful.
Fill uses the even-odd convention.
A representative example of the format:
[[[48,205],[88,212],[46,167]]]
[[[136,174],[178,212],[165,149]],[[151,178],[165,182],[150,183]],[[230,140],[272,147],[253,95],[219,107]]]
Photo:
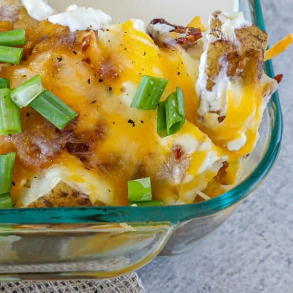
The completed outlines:
[[[190,25],[205,30],[199,17]],[[231,83],[226,119],[218,123],[209,112],[202,123],[195,90],[200,60],[179,44],[158,46],[139,20],[70,32],[31,20],[21,8],[18,21],[0,22],[1,30],[8,27],[24,27],[27,42],[23,61],[1,66],[0,75],[15,88],[41,74],[43,87],[78,113],[57,131],[25,107],[22,133],[0,137],[0,154],[17,153],[11,190],[16,207],[31,205],[61,181],[92,205],[109,206],[127,205],[127,181],[142,177],[151,177],[153,198],[164,204],[209,199],[238,182],[272,92],[265,77],[258,84]],[[157,112],[130,107],[144,75],[168,79],[162,100],[176,86],[183,90],[186,123],[176,134],[160,138]]]

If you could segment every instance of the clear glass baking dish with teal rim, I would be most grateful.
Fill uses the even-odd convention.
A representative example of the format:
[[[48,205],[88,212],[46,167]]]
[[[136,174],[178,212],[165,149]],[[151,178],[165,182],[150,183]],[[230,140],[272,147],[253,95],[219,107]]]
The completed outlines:
[[[239,10],[265,29],[259,0]],[[272,63],[265,64],[273,77]],[[280,150],[282,114],[275,93],[242,182],[206,202],[165,207],[0,210],[0,281],[106,278],[134,271],[156,255],[189,251],[209,241],[262,181]]]

